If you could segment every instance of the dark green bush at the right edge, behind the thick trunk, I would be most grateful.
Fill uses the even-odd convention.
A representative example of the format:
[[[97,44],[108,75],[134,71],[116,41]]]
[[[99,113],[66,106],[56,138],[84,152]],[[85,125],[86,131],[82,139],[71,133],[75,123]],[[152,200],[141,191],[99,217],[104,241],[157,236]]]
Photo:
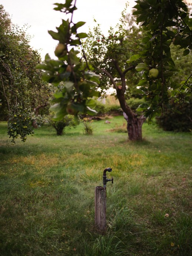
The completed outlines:
[[[172,102],[172,106],[176,111],[179,111],[182,114],[173,112],[169,109],[167,112],[156,118],[159,127],[163,128],[165,131],[192,131],[192,99],[189,103],[178,104]]]

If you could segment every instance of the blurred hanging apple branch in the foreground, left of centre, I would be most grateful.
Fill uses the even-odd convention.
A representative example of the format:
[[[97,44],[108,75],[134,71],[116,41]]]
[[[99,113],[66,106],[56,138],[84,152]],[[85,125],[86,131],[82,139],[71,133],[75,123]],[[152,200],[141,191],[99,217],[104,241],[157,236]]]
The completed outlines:
[[[95,106],[95,101],[91,98],[99,96],[99,92],[96,91],[99,76],[90,71],[91,67],[87,63],[81,43],[81,39],[87,37],[87,34],[77,33],[77,29],[85,22],[73,23],[73,12],[77,9],[75,4],[76,1],[72,3],[72,0],[66,0],[64,4],[55,4],[57,7],[54,10],[69,16],[69,19],[62,20],[62,24],[56,28],[57,32],[49,31],[53,39],[59,41],[55,49],[58,59],[51,59],[47,54],[45,64],[37,65],[37,68],[45,70],[44,81],[55,86],[64,82],[62,92],[54,94],[55,104],[51,110],[56,112],[55,121],[67,114],[75,115],[78,121],[79,112],[94,115],[96,111],[92,107]],[[76,46],[81,47],[82,57],[79,57]]]

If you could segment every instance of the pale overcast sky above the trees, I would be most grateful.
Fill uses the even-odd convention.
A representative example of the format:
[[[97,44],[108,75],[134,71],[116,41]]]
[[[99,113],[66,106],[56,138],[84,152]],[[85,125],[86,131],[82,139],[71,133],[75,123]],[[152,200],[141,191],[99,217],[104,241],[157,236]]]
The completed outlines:
[[[84,21],[83,32],[88,32],[89,27],[93,27],[95,18],[101,24],[103,33],[107,33],[110,26],[115,27],[118,23],[121,12],[129,3],[128,12],[135,6],[134,0],[77,0],[77,8],[73,14],[73,21]],[[52,39],[48,30],[56,31],[56,26],[61,24],[61,19],[65,19],[64,14],[53,10],[54,3],[64,3],[56,0],[1,0],[6,12],[10,14],[11,21],[22,27],[27,24],[27,33],[32,36],[30,46],[37,49],[42,59],[46,53],[54,58],[54,49],[57,40]]]

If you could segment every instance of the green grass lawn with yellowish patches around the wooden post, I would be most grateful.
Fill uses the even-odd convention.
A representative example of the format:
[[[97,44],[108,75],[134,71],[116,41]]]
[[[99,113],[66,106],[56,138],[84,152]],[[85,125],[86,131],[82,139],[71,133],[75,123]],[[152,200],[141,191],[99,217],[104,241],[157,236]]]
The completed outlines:
[[[192,134],[143,124],[143,142],[130,142],[122,116],[109,121],[93,135],[44,126],[15,146],[0,123],[0,255],[191,255]],[[94,191],[106,167],[102,236]]]

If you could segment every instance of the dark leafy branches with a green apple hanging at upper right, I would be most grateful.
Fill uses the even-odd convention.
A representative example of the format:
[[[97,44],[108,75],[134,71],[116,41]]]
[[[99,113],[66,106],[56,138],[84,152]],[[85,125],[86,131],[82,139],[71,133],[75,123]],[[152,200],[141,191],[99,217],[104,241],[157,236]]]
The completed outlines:
[[[178,72],[171,55],[171,45],[183,50],[183,55],[191,55],[192,18],[182,0],[138,0],[133,15],[137,23],[146,31],[140,43],[140,52],[127,63],[142,60],[136,67],[142,79],[138,86],[145,97],[139,110],[145,111],[150,120],[171,108],[170,100],[184,102],[192,91],[192,72],[187,78],[177,81],[173,74]],[[179,53],[178,53],[179,54]]]

